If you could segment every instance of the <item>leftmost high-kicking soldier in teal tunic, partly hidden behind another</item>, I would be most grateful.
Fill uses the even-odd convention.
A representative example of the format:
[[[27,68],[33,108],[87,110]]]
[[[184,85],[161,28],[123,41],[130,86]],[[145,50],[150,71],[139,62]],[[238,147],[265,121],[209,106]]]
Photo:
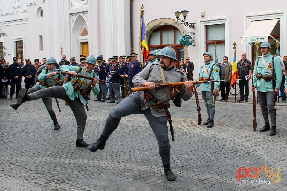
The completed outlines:
[[[47,66],[42,68],[42,72],[38,76],[39,82],[36,83],[32,88],[27,91],[27,94],[33,93],[40,89],[45,89],[53,87],[55,85],[60,85],[60,81],[65,79],[65,76],[62,74],[56,74],[59,69],[56,68],[57,61],[53,57],[49,58],[47,61]],[[52,108],[52,99],[51,98],[42,98],[44,105],[54,123],[54,130],[60,129],[55,111]],[[10,104],[15,110],[20,106],[18,103]]]

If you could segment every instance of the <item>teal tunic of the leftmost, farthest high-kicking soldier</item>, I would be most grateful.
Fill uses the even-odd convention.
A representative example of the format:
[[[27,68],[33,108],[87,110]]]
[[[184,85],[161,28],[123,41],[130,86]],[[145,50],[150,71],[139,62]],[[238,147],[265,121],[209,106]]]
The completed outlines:
[[[38,80],[45,82],[47,85],[54,86],[56,85],[57,78],[59,78],[59,80],[63,80],[65,79],[65,76],[63,74],[57,74],[56,76],[51,76],[51,77],[47,77],[47,76],[50,75],[52,72],[58,72],[58,71],[59,69],[56,69],[56,68],[49,69],[47,67],[44,67],[42,69],[42,72],[38,76]],[[37,82],[36,85],[38,85],[41,89],[47,88],[46,85],[42,86],[39,84],[39,82]]]

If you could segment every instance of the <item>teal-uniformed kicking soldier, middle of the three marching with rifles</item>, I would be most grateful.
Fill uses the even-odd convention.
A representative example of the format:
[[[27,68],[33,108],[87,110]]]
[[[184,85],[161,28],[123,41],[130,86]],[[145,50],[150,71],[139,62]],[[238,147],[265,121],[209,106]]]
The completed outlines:
[[[66,104],[70,106],[76,118],[77,147],[87,147],[89,145],[83,140],[87,120],[87,115],[83,107],[87,104],[85,95],[91,91],[93,91],[94,94],[98,94],[100,91],[97,80],[98,75],[93,70],[93,66],[97,63],[96,58],[94,56],[89,56],[85,61],[85,67],[69,65],[62,65],[60,67],[61,71],[69,72],[72,74],[70,82],[64,84],[63,86],[45,88],[31,94],[27,94],[27,91],[22,89],[18,96],[19,99],[17,100],[19,105],[25,101],[31,101],[46,97],[54,97],[64,100]],[[77,74],[93,77],[93,80],[76,77]]]

